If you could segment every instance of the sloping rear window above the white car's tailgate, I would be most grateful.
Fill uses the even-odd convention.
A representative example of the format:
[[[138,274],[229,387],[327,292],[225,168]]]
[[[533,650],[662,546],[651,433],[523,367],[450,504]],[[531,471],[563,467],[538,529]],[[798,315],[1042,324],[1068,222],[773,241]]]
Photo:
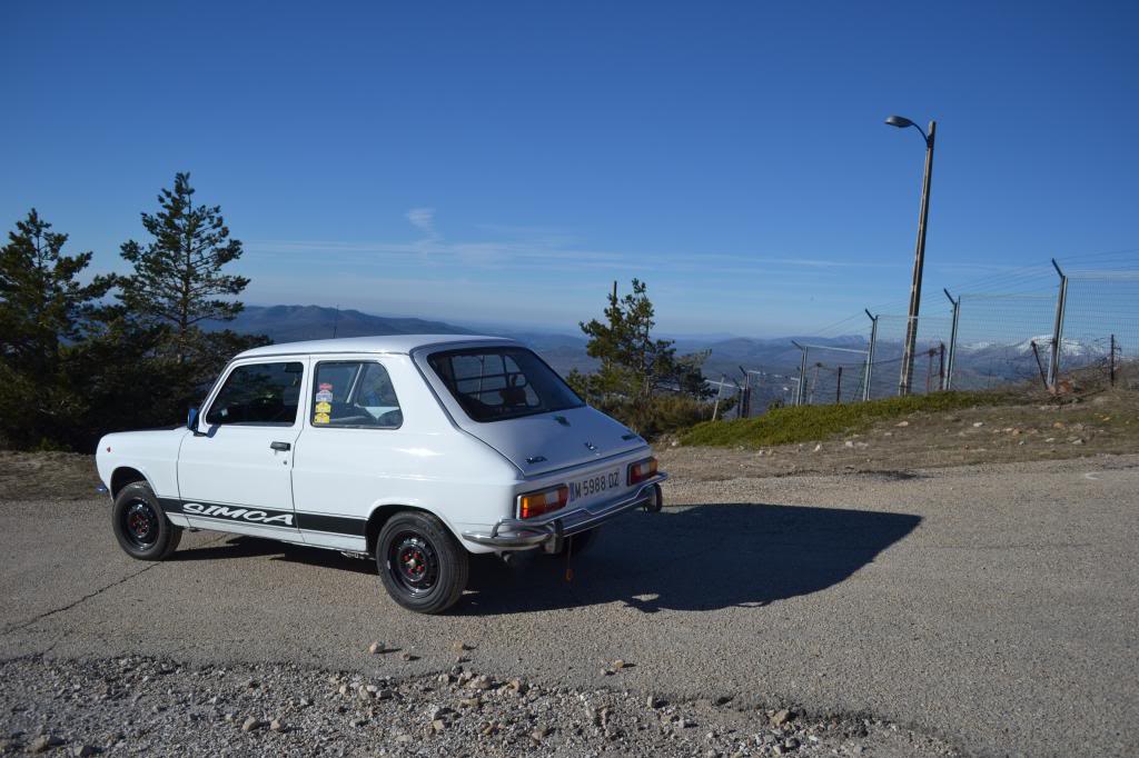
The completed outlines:
[[[434,353],[427,362],[475,421],[501,421],[584,405],[554,370],[521,347]]]

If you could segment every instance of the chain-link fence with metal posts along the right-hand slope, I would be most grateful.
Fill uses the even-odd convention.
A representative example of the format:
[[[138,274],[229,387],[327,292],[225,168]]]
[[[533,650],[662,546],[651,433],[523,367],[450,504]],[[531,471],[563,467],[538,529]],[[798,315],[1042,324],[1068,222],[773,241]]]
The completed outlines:
[[[1029,282],[1032,291],[967,293],[956,299],[945,291],[942,313],[927,302],[927,314],[917,321],[908,392],[986,389],[1010,382],[1063,390],[1074,373],[1103,373],[1107,380],[1134,374],[1121,369],[1139,364],[1139,271],[1068,275],[1052,265],[1051,281],[1034,272]],[[998,281],[1014,290],[1025,283]],[[800,357],[795,368],[740,366],[746,380],[732,384],[748,402],[737,414],[756,415],[772,404],[852,403],[903,394],[909,320],[870,311],[866,318],[862,345],[793,341]],[[852,323],[853,319],[838,322],[847,329]]]

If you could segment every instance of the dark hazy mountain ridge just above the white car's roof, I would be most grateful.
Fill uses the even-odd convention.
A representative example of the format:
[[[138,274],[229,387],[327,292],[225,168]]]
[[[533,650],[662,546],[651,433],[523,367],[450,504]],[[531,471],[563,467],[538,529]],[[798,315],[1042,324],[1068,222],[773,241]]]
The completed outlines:
[[[469,329],[443,321],[405,316],[377,316],[360,311],[337,311],[319,305],[247,305],[229,323],[211,322],[207,329],[229,328],[247,335],[265,335],[274,343],[375,335],[472,335]]]

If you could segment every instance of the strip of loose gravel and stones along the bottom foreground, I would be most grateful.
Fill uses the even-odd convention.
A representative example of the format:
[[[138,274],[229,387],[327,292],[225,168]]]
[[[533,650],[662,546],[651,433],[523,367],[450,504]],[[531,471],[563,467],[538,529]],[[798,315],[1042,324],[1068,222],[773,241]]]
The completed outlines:
[[[393,653],[388,654],[395,654]],[[952,756],[878,719],[724,699],[505,682],[466,661],[427,677],[129,657],[11,660],[6,751],[75,756]]]

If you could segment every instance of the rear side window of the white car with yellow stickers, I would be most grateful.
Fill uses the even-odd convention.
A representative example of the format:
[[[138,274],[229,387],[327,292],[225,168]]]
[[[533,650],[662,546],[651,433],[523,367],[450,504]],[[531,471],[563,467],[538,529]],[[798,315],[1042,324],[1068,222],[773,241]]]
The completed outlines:
[[[312,384],[314,427],[394,429],[403,423],[387,369],[375,361],[321,361]]]

